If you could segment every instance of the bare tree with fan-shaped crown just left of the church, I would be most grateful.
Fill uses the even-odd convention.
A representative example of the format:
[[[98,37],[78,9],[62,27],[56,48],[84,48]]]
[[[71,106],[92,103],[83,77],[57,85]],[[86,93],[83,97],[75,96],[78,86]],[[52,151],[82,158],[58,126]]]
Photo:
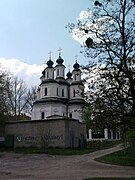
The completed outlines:
[[[35,100],[36,87],[28,89],[22,79],[13,77],[8,84],[8,105],[11,108],[15,120],[21,118],[21,114],[30,115],[32,104]]]

